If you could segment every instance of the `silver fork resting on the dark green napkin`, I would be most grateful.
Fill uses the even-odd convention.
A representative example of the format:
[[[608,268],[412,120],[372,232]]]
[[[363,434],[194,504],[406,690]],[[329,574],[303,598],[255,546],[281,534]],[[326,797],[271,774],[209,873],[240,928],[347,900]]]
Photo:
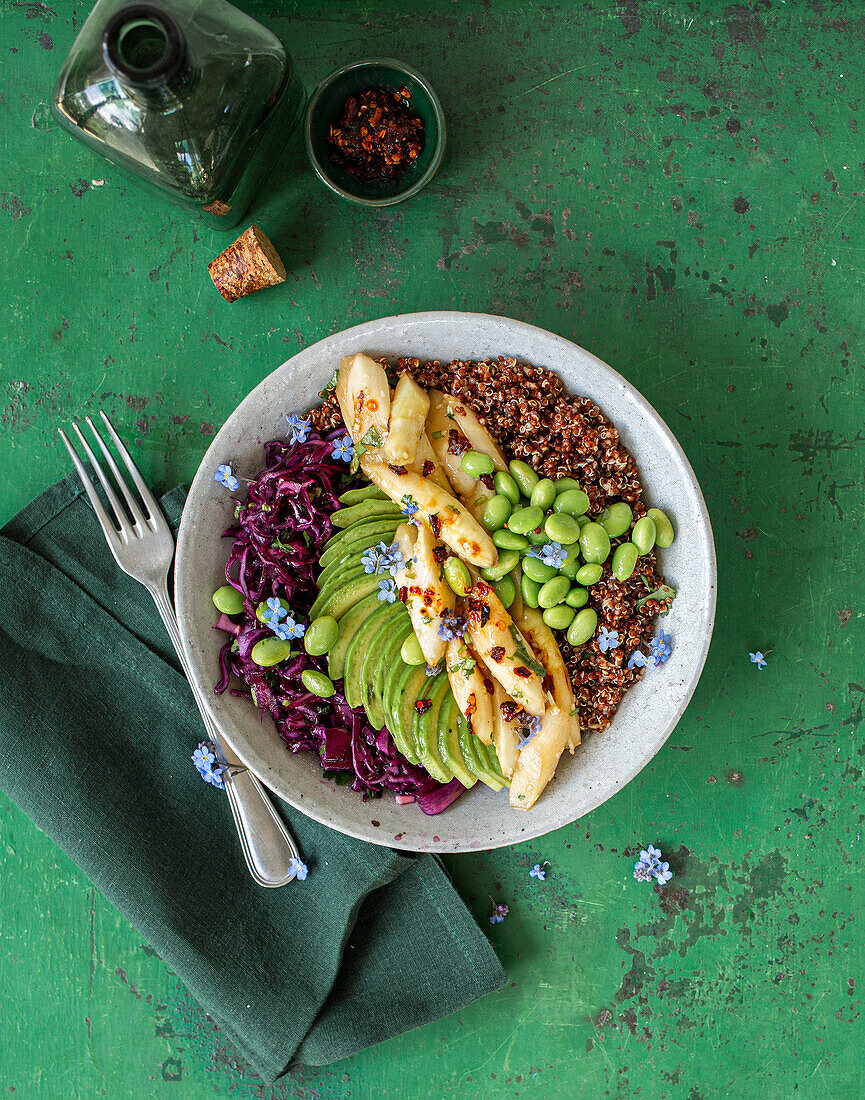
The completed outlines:
[[[129,573],[135,581],[140,581],[153,596],[162,622],[165,624],[165,629],[168,631],[168,637],[172,639],[172,645],[180,659],[186,679],[193,689],[193,695],[201,713],[207,735],[218,746],[228,766],[222,769],[222,780],[226,784],[229,805],[231,806],[231,813],[234,817],[234,824],[238,828],[250,875],[262,887],[285,886],[286,882],[291,882],[295,878],[292,859],[299,858],[297,847],[282,818],[273,809],[259,779],[251,771],[248,771],[233,754],[227,751],[222,745],[219,730],[207,712],[201,693],[189,675],[189,668],[183,650],[183,642],[180,641],[180,632],[177,628],[177,619],[175,618],[174,608],[168,597],[168,571],[174,560],[174,536],[172,535],[168,521],[162,514],[162,509],[153,494],[147,488],[146,482],[141,476],[129,451],[114,431],[111,421],[101,409],[100,416],[127,468],[132,483],[139,491],[143,508],[127,485],[117,462],[114,462],[111,452],[106,447],[102,437],[96,430],[89,416],[85,417],[85,420],[96,437],[106,465],[111,471],[117,488],[123,497],[123,505],[118,499],[114,487],[106,476],[99,460],[84,438],[78,425],[73,424],[73,429],[96,472],[96,476],[99,479],[99,484],[102,486],[105,495],[108,498],[113,516],[109,515],[99,499],[96,488],[87,475],[84,463],[63,430],[59,430],[61,439],[66,444],[66,449],[75,463],[75,469],[81,479],[87,496],[96,513],[96,518],[99,520],[105,532],[108,547],[114,556],[114,561],[117,561],[124,573]],[[132,517],[131,522],[130,516]]]

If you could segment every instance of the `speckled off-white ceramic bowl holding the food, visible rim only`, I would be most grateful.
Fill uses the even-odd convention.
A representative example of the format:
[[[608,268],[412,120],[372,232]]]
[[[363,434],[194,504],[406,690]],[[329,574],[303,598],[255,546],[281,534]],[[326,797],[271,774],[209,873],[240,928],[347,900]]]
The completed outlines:
[[[611,726],[590,735],[574,756],[566,751],[558,773],[535,807],[512,810],[506,791],[478,783],[445,813],[427,817],[416,805],[385,795],[370,802],[321,778],[315,756],[291,754],[270,718],[244,698],[213,695],[223,635],[212,629],[210,596],[225,584],[231,525],[229,493],[213,480],[222,462],[253,476],[264,465],[262,443],[284,438],[285,415],[318,402],[342,355],[414,355],[418,359],[484,359],[514,355],[556,371],[571,393],[594,400],[618,429],[640,470],[647,503],[672,518],[677,537],[663,551],[666,579],[678,590],[664,628],[672,656],[652,669],[626,695]],[[271,790],[316,821],[351,836],[413,851],[496,848],[567,825],[612,798],[655,756],[681,717],[705,661],[715,610],[715,556],[700,486],[667,425],[605,363],[550,332],[485,314],[428,312],[385,317],[359,324],[299,352],[269,375],[240,404],[217,435],[189,491],[175,568],[177,615],[191,674],[204,688],[210,713],[241,760]]]

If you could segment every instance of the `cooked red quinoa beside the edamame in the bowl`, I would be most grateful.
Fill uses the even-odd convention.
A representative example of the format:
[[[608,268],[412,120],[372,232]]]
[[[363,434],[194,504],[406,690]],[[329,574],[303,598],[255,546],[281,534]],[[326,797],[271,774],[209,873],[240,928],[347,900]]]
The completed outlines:
[[[590,515],[614,501],[626,501],[635,520],[646,514],[639,471],[618,432],[588,397],[568,394],[552,371],[504,355],[451,363],[399,359],[398,369],[469,405],[506,455],[522,459],[541,476],[579,481],[591,501]],[[330,394],[313,411],[313,425],[330,428],[341,422],[336,396]],[[627,535],[613,539],[613,547],[626,539]],[[642,608],[636,604],[663,583],[654,552],[638,559],[633,576],[624,582],[612,576],[607,561],[604,575],[589,590],[588,606],[598,613],[599,627],[618,632],[618,647],[602,653],[595,634],[573,649],[558,636],[584,729],[606,728],[627,689],[642,679],[640,669],[627,669],[627,659],[635,649],[646,651],[665,604],[652,601]]]

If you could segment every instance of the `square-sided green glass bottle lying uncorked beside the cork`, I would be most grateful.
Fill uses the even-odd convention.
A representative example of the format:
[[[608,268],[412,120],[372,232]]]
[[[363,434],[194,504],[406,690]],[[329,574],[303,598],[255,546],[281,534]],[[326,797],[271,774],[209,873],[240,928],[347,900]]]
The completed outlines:
[[[227,229],[303,108],[283,44],[226,0],[98,0],[52,103],[87,146]]]

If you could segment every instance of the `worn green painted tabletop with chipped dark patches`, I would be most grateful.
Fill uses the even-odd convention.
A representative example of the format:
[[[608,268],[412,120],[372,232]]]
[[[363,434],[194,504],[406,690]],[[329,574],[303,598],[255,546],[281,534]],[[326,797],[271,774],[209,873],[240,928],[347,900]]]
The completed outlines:
[[[107,409],[167,487],[311,341],[386,314],[489,310],[596,352],[670,424],[714,522],[714,642],[678,729],[621,794],[538,843],[448,861],[510,986],[272,1092],[0,796],[0,1086],[865,1096],[861,6],[245,7],[307,86],[370,54],[427,73],[445,165],[370,213],[326,194],[295,143],[252,212],[288,280],[229,306],[205,270],[225,234],[48,118],[85,9],[3,0],[0,520],[66,473],[55,429],[73,417]],[[663,891],[623,854],[647,842],[676,871]],[[545,859],[540,883],[528,870]],[[511,905],[495,927],[489,894]]]

